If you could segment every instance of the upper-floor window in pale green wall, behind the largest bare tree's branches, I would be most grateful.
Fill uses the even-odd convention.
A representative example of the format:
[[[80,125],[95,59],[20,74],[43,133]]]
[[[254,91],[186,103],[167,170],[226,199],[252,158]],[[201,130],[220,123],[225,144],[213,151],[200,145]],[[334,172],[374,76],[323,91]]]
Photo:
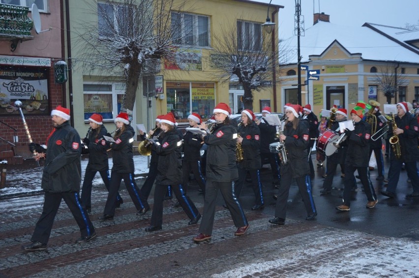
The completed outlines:
[[[115,34],[123,35],[130,29],[132,10],[124,5],[97,3],[97,22],[99,37],[109,38]]]

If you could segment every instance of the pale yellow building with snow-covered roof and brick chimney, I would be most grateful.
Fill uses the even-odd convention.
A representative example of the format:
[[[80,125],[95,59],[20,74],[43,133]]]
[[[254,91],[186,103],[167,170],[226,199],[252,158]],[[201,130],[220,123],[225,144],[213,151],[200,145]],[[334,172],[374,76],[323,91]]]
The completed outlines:
[[[345,27],[329,22],[329,15],[315,14],[315,24],[300,37],[302,105],[311,104],[316,114],[333,105],[348,112],[358,100],[386,104],[381,80],[397,78],[391,103],[419,99],[419,30],[409,31],[365,23]],[[285,40],[297,50],[297,38]],[[297,103],[297,55],[286,62],[280,77],[282,103]],[[397,72],[397,74],[394,74]],[[307,81],[308,80],[308,81]],[[382,107],[381,107],[382,109]]]

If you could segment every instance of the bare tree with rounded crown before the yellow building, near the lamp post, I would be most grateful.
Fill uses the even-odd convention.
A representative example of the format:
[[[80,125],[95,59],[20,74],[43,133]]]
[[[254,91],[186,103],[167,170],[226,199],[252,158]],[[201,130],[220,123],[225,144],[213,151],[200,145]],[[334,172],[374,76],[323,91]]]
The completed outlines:
[[[247,26],[243,27],[244,24]],[[216,78],[224,82],[237,79],[244,89],[244,109],[253,110],[252,91],[271,85],[268,81],[272,80],[272,68],[277,64],[272,58],[269,36],[263,38],[260,25],[238,20],[222,26],[213,42],[214,51],[209,58]]]

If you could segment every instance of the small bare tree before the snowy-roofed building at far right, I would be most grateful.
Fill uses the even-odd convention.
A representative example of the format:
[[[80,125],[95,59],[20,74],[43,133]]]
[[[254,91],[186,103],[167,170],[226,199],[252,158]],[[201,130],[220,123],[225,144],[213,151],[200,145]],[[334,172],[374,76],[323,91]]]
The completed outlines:
[[[398,84],[404,83],[405,80],[401,75],[398,63],[380,67],[375,78],[376,83],[378,83],[378,89],[383,92],[388,104],[391,103],[391,99],[395,96]]]

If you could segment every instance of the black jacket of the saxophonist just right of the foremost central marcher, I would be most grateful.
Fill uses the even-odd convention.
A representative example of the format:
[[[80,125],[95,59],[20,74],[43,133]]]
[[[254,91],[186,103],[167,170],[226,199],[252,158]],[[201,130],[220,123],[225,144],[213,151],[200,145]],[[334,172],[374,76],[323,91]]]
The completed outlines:
[[[260,169],[260,130],[256,123],[252,122],[246,126],[239,126],[239,135],[243,138],[241,148],[243,149],[243,161],[237,166],[246,169]]]

